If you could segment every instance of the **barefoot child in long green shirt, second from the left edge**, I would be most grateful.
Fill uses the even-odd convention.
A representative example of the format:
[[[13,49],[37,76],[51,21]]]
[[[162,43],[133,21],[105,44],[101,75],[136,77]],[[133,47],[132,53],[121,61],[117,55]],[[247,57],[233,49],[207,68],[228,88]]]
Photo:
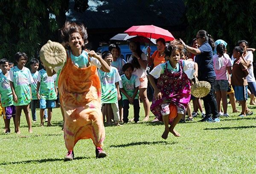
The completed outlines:
[[[29,133],[32,133],[32,124],[29,114],[29,103],[31,102],[31,89],[30,84],[33,82],[30,70],[25,67],[28,61],[28,56],[26,53],[17,52],[14,55],[14,59],[17,62],[17,66],[12,67],[7,79],[10,81],[10,86],[12,89],[14,106],[16,109],[16,128],[15,132],[20,134],[20,115],[23,109],[26,115],[26,121],[29,126]]]

